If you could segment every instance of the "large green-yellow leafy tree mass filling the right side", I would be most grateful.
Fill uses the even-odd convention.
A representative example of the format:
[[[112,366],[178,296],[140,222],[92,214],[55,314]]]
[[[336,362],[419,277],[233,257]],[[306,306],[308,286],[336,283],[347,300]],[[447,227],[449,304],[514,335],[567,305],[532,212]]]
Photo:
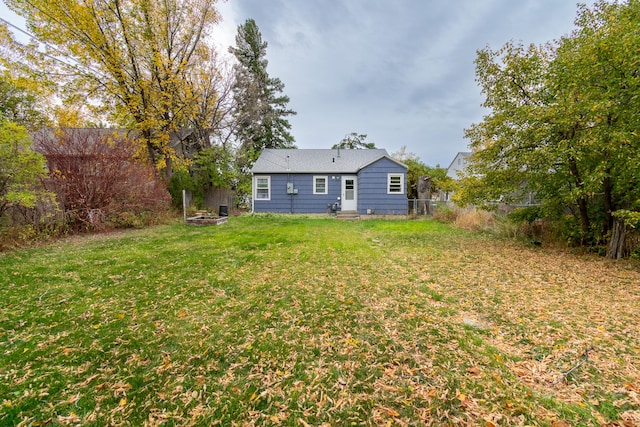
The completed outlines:
[[[577,29],[544,46],[478,52],[484,121],[460,199],[517,201],[532,192],[548,216],[573,213],[578,243],[608,238],[637,209],[640,2],[580,6]]]

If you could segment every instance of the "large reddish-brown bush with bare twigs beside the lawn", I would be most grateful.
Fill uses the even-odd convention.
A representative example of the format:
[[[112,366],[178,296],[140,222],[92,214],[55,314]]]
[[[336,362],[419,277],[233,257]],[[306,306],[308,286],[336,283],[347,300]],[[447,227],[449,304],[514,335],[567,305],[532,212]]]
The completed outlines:
[[[33,139],[47,159],[44,185],[72,231],[142,225],[166,211],[169,195],[154,168],[136,157],[128,132],[44,130]]]

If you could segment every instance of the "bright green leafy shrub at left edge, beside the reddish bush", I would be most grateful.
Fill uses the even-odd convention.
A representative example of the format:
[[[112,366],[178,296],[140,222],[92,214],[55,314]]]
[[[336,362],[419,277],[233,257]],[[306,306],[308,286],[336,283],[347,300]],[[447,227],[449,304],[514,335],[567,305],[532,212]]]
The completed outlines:
[[[0,118],[0,217],[11,207],[36,205],[44,194],[39,184],[45,165],[44,156],[31,149],[24,126]]]

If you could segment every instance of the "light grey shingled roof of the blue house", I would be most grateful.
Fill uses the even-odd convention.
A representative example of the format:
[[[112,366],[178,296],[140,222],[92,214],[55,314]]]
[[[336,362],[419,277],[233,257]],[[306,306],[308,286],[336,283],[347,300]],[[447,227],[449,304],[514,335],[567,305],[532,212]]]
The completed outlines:
[[[268,148],[253,165],[253,173],[357,173],[382,158],[393,159],[384,149],[297,149]]]

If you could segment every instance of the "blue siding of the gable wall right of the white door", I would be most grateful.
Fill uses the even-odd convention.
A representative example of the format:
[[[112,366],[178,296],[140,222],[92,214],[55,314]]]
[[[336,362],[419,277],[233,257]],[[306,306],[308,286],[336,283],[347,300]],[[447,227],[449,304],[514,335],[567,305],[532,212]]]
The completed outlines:
[[[387,193],[387,176],[403,175],[401,194]],[[358,173],[358,212],[361,215],[407,215],[407,170],[388,158],[382,158],[364,167]]]

